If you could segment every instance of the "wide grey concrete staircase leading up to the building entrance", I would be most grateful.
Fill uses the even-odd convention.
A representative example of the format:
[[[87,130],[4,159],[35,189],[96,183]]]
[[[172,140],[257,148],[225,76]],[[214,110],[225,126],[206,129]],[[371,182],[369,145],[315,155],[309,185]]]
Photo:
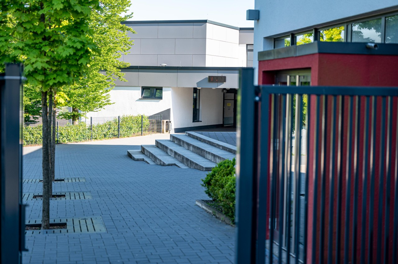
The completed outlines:
[[[210,171],[223,160],[232,160],[236,146],[195,132],[172,134],[170,140],[158,139],[155,145],[141,145],[141,150],[127,150],[136,161],[162,166],[178,166]]]

